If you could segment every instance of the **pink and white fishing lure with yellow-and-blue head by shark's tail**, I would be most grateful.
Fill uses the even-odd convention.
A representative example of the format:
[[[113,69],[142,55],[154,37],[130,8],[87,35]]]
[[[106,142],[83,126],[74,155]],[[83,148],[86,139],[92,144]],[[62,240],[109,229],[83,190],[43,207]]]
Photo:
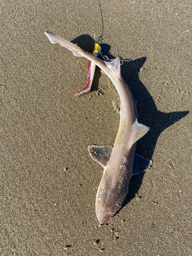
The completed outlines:
[[[95,43],[92,54],[95,57],[98,57],[100,52],[101,52],[101,47],[97,43]],[[94,73],[95,73],[95,68],[96,68],[95,63],[93,63],[91,60],[89,60],[87,86],[83,90],[79,91],[78,93],[75,93],[75,96],[81,96],[83,94],[86,94],[86,93],[90,92],[91,85],[92,85],[92,82],[93,82]]]

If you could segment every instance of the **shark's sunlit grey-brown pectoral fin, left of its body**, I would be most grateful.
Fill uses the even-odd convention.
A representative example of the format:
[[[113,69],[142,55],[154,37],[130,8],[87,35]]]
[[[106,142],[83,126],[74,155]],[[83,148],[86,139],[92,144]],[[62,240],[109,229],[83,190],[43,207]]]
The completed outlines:
[[[103,168],[108,165],[108,161],[111,157],[113,147],[112,146],[97,146],[91,145],[88,147],[88,151],[91,157],[97,161]]]

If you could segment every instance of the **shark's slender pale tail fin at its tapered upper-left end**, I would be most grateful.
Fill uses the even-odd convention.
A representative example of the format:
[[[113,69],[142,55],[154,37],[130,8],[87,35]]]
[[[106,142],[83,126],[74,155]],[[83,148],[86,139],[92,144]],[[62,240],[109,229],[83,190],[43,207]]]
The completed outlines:
[[[74,44],[72,42],[67,41],[66,39],[63,39],[62,37],[55,35],[51,32],[45,32],[49,40],[52,42],[52,44],[60,44],[63,47],[66,47],[66,43],[68,47],[66,47],[68,50],[72,51],[72,53],[75,56],[82,56],[78,51],[74,50]]]

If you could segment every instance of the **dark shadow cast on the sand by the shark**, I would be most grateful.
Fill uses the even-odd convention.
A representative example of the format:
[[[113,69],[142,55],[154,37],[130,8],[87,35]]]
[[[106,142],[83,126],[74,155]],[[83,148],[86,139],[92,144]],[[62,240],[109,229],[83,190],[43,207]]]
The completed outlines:
[[[93,38],[91,38],[89,35],[81,35],[75,38],[72,42],[74,44],[77,44],[83,50],[89,52],[92,52],[95,43]],[[109,45],[100,44],[100,46],[102,48],[103,54],[106,54],[109,59],[115,58],[109,53],[111,48]],[[121,75],[133,93],[134,99],[137,104],[139,123],[150,127],[150,131],[139,141],[137,141],[136,153],[145,158],[152,159],[159,135],[167,127],[185,117],[189,113],[189,111],[170,113],[158,111],[152,96],[148,93],[144,84],[139,79],[139,71],[144,65],[145,61],[146,57],[129,61],[123,60],[123,65],[121,66]],[[96,79],[98,79],[97,75],[98,74],[96,73]],[[95,90],[95,86],[92,90]],[[144,173],[141,173],[131,178],[129,192],[125,201],[123,202],[121,209],[127,203],[129,203],[136,194],[138,194],[138,190],[142,184],[143,177]],[[119,211],[117,211],[116,214],[118,214],[118,212]]]

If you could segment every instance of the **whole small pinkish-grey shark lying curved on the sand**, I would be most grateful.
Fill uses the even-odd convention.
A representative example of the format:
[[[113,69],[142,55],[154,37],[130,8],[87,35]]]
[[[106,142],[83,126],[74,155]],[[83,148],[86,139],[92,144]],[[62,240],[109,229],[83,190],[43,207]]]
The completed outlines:
[[[120,99],[114,106],[120,110],[120,124],[114,147],[91,145],[91,157],[103,168],[103,177],[96,195],[96,215],[99,223],[109,221],[120,209],[129,190],[131,176],[143,172],[151,161],[135,156],[136,142],[144,136],[149,127],[138,123],[133,95],[120,73],[120,59],[103,61],[51,32],[45,32],[52,44],[60,44],[82,56],[103,70],[114,83]],[[135,159],[135,161],[134,161]]]

